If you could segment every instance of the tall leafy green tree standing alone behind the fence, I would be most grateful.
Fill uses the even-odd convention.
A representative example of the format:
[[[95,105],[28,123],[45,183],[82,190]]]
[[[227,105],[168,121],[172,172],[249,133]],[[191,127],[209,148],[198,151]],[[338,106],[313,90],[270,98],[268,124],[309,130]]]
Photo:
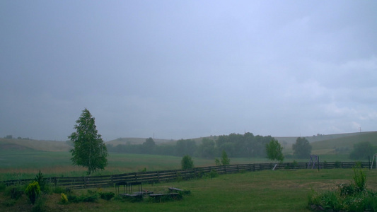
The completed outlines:
[[[74,129],[76,132],[69,136],[74,148],[71,149],[72,162],[74,165],[81,165],[88,168],[88,175],[105,169],[108,165],[108,150],[101,138],[97,134],[94,117],[91,112],[83,110],[81,117],[76,121]]]

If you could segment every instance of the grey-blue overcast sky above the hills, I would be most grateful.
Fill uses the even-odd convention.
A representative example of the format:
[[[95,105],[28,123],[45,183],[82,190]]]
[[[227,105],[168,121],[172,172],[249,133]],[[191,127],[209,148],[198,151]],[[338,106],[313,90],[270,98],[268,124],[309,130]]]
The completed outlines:
[[[0,136],[377,130],[377,1],[0,1]]]

